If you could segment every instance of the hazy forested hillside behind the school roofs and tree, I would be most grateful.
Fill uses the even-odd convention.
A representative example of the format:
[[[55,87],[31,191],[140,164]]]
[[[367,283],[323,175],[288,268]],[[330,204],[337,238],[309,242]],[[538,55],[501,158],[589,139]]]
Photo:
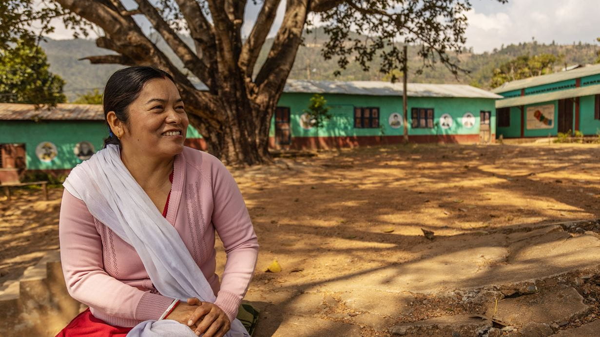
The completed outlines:
[[[377,59],[369,71],[362,71],[356,62],[350,62],[347,70],[342,71],[341,76],[335,77],[334,70],[337,69],[335,59],[324,60],[320,54],[326,35],[322,29],[315,29],[311,34],[305,35],[304,46],[301,46],[296,55],[296,61],[290,73],[290,79],[312,79],[312,80],[383,80],[385,74],[378,71]],[[191,44],[189,37],[184,37],[186,43]],[[154,37],[158,46],[167,56],[173,58],[173,52],[166,48],[160,38]],[[267,40],[263,50],[260,52],[257,67],[266,59],[266,55],[272,44],[272,39]],[[106,55],[114,53],[111,50],[101,49],[95,46],[92,40],[48,40],[41,44],[48,55],[50,71],[59,74],[66,82],[65,95],[69,100],[74,100],[83,92],[94,88],[102,89],[106,80],[120,65],[92,65],[89,61],[79,61],[80,58],[92,55]],[[573,64],[591,64],[597,58],[596,53],[600,47],[595,44],[574,43],[569,45],[540,44],[536,41],[520,44],[510,44],[494,49],[493,52],[476,54],[470,50],[464,50],[460,55],[452,55],[455,60],[460,61],[460,66],[469,70],[469,74],[460,74],[458,79],[441,64],[436,68],[425,68],[422,74],[416,74],[422,61],[416,54],[416,47],[409,47],[409,82],[417,83],[464,83],[490,88],[490,80],[494,68],[503,62],[509,61],[521,55],[538,55],[550,53],[563,55],[563,62],[556,65],[556,70]],[[178,60],[175,64],[181,68]]]

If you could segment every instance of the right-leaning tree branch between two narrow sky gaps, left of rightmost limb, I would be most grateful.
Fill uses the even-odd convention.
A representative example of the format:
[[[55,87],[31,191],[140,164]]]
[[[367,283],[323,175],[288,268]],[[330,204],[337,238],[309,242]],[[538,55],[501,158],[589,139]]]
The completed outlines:
[[[265,43],[266,36],[271,30],[275,16],[277,16],[279,3],[280,0],[265,0],[263,7],[260,8],[256,23],[254,23],[248,39],[242,46],[238,64],[246,77],[252,77],[254,73],[254,65],[259,57],[260,49]]]

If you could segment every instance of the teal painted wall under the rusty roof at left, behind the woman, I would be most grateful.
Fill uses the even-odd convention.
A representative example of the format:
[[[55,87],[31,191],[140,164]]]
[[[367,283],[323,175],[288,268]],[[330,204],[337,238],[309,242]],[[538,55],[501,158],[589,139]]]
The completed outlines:
[[[0,143],[24,143],[28,170],[71,169],[82,161],[73,152],[75,145],[87,141],[98,151],[108,136],[104,122],[99,121],[1,121]],[[188,127],[188,138],[199,138],[196,129]],[[51,142],[58,155],[45,163],[35,155],[41,142]]]

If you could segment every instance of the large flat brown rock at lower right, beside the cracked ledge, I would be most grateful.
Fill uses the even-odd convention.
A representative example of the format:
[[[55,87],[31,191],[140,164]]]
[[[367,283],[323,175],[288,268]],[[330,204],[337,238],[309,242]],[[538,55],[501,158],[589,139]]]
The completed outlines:
[[[493,314],[493,306],[487,315]],[[589,306],[583,303],[583,297],[573,287],[535,293],[498,302],[493,318],[511,325],[524,326],[527,323],[547,323],[569,321],[572,317],[585,314]]]

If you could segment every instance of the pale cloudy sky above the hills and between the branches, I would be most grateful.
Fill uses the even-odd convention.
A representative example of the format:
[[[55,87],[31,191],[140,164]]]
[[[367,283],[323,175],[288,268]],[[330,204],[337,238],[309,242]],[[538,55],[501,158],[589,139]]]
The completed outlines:
[[[600,0],[509,0],[500,4],[497,0],[471,0],[473,9],[467,13],[469,28],[466,31],[466,47],[473,47],[476,53],[500,49],[502,44],[531,41],[538,43],[571,44],[596,43],[600,28],[596,24],[600,17]],[[260,7],[248,1],[242,34],[252,29],[253,20]],[[277,32],[284,11],[281,1],[271,35]],[[134,2],[126,0],[133,6]],[[70,31],[59,20],[55,21],[54,39],[71,38]],[[147,23],[140,20],[143,28]],[[596,24],[596,25],[595,25]],[[92,33],[92,36],[95,34]]]

